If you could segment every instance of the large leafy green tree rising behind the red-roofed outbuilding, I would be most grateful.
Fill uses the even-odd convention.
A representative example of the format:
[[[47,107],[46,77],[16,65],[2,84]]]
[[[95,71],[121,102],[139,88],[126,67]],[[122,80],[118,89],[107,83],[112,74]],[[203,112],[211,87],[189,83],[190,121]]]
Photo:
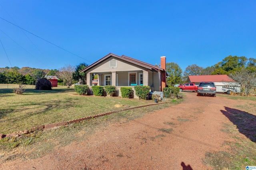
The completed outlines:
[[[228,56],[221,62],[215,64],[216,70],[212,74],[230,74],[246,66],[248,59],[246,57]]]

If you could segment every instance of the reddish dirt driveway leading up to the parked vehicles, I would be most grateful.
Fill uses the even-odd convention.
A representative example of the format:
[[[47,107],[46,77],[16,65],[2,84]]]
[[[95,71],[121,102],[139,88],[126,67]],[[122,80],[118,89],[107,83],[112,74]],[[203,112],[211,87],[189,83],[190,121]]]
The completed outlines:
[[[112,124],[90,139],[56,148],[37,159],[17,159],[0,169],[20,170],[212,170],[206,152],[226,150],[223,114],[241,101],[185,92],[184,102],[128,123]],[[227,146],[226,146],[227,147]]]

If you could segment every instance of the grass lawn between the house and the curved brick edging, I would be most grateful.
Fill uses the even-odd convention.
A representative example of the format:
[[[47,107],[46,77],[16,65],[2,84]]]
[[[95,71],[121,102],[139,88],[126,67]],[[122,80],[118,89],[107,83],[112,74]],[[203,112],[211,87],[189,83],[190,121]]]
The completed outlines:
[[[70,89],[60,86],[47,91],[34,90],[30,85],[26,86],[23,95],[14,94],[14,87],[18,85],[9,84],[7,88],[7,84],[0,84],[2,134],[153,103],[152,100],[80,96],[73,86]]]

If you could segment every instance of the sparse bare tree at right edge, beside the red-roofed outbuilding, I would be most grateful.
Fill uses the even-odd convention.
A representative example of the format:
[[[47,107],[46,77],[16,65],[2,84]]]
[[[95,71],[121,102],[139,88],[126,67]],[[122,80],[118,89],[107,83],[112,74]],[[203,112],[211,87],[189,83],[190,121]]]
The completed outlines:
[[[231,73],[230,77],[241,85],[244,96],[253,95],[256,88],[256,72],[251,72],[246,68]]]

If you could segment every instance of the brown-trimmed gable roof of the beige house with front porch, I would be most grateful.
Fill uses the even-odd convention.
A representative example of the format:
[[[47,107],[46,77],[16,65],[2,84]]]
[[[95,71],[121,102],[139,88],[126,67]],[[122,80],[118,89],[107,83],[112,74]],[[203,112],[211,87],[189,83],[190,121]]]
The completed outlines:
[[[152,70],[152,71],[162,71],[162,72],[165,71],[163,68],[160,68],[158,66],[154,66],[152,64],[145,63],[143,61],[140,61],[140,60],[137,60],[137,59],[134,59],[134,58],[131,58],[131,57],[127,57],[125,55],[119,56],[119,55],[115,55],[113,53],[109,53],[105,57],[99,59],[98,61],[96,61],[96,62],[92,63],[91,65],[87,66],[86,68],[82,69],[80,72],[86,72],[86,71],[90,70],[91,68],[93,68],[94,66],[97,66],[98,64],[106,61],[110,57],[116,57],[118,59],[127,61],[127,62],[132,63],[132,64],[136,64],[138,66],[142,66],[142,67],[147,68],[147,69]]]

